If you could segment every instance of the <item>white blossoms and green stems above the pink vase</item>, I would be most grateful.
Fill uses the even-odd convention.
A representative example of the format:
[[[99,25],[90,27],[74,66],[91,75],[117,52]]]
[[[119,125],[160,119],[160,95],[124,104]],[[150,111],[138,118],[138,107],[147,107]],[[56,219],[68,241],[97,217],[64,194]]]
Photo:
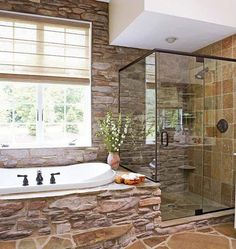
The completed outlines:
[[[130,123],[129,115],[122,119],[121,113],[114,117],[111,111],[107,112],[105,118],[99,121],[100,131],[97,132],[97,136],[103,138],[108,152],[119,152],[128,134]]]

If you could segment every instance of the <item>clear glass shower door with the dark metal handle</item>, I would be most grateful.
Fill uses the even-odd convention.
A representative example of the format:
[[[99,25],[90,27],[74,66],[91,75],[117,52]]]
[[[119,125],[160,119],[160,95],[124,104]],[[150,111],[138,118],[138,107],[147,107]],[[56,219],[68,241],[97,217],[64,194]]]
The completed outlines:
[[[156,53],[157,165],[163,220],[202,209],[204,61]]]

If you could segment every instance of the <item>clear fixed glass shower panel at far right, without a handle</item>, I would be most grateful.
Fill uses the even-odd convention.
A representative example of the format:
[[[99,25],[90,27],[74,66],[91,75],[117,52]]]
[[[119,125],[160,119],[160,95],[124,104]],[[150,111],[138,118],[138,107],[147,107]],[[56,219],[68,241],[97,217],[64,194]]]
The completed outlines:
[[[234,207],[235,63],[204,59],[203,212]]]

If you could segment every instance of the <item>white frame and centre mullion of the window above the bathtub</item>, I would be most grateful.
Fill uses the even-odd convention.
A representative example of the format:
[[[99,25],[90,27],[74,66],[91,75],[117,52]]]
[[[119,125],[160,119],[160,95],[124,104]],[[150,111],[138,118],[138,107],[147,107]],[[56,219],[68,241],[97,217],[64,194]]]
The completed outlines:
[[[38,87],[36,87],[37,89],[37,96],[36,96],[36,108],[35,111],[36,113],[36,130],[41,132],[41,135],[37,135],[37,137],[39,136],[39,140],[37,138],[37,143],[36,144],[29,144],[29,145],[9,145],[9,146],[5,146],[5,144],[3,146],[1,146],[0,144],[0,149],[14,149],[14,148],[61,148],[61,147],[65,147],[65,148],[70,148],[70,147],[91,147],[92,146],[92,86],[91,86],[91,81],[92,81],[92,22],[89,21],[82,21],[82,20],[75,20],[75,19],[66,19],[66,18],[57,18],[57,17],[49,17],[49,16],[43,16],[43,15],[34,15],[34,14],[26,14],[26,13],[19,13],[19,12],[13,12],[13,11],[4,11],[4,10],[0,10],[0,15],[1,17],[6,17],[6,18],[21,18],[22,20],[36,20],[36,21],[40,21],[43,23],[55,23],[55,24],[64,24],[64,25],[73,25],[73,26],[77,26],[77,25],[86,25],[89,28],[89,47],[88,47],[88,51],[89,51],[89,56],[88,56],[88,60],[89,60],[89,78],[88,81],[87,80],[83,80],[83,78],[78,78],[78,77],[64,77],[64,76],[45,76],[45,75],[28,75],[28,74],[14,74],[14,73],[0,73],[0,84],[2,81],[11,81],[12,83],[19,83],[24,81],[25,83],[38,83],[38,85],[40,85],[41,83],[41,93],[38,92]],[[78,81],[80,83],[78,83]],[[70,82],[65,83],[65,82]],[[88,144],[86,144],[85,146],[83,145],[72,145],[72,144],[61,144],[61,145],[48,145],[48,144],[43,144],[42,143],[42,133],[43,133],[43,129],[44,129],[44,120],[43,120],[43,93],[42,93],[42,89],[43,89],[43,84],[63,84],[65,86],[73,86],[73,85],[86,85],[88,87],[88,92],[89,92],[89,96],[87,96],[87,111],[86,114],[87,115],[87,120],[89,123],[89,136],[88,136]],[[41,117],[41,118],[40,118]],[[41,140],[41,141],[40,141]]]

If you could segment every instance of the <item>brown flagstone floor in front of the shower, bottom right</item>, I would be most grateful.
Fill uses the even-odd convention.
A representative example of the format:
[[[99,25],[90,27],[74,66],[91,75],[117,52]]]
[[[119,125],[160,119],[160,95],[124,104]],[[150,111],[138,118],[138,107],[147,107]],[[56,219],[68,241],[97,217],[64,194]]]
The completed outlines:
[[[135,241],[126,249],[236,249],[233,223],[199,227],[192,231]]]

